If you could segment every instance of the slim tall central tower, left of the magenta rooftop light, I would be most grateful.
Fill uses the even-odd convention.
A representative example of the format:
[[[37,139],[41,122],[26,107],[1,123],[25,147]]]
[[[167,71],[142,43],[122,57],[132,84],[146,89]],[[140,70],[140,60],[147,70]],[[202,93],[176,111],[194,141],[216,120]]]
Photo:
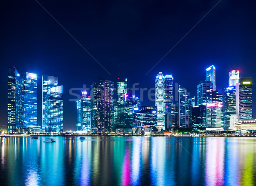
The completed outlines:
[[[127,79],[117,80],[117,127],[124,127],[124,104],[127,94]]]

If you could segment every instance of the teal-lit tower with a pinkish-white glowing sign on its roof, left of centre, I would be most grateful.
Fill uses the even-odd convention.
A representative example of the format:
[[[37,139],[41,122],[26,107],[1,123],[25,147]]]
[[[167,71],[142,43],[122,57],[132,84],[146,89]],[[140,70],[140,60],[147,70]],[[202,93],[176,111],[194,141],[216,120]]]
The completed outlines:
[[[91,112],[90,112],[90,96],[87,95],[87,91],[82,91],[80,100],[81,106],[81,131],[91,131]]]

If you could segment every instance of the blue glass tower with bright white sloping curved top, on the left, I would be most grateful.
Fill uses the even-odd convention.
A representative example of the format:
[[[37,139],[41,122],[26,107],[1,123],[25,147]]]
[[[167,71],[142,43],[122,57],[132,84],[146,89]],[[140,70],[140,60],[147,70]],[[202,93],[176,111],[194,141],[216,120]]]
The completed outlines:
[[[45,111],[46,132],[63,132],[63,86],[55,86],[49,89]]]

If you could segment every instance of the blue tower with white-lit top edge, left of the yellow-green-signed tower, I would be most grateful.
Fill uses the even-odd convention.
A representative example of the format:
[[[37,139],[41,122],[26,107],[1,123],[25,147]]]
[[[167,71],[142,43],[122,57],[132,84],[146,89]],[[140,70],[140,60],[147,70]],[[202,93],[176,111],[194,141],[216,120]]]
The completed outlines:
[[[230,116],[236,114],[236,86],[224,90],[224,129],[230,126]]]

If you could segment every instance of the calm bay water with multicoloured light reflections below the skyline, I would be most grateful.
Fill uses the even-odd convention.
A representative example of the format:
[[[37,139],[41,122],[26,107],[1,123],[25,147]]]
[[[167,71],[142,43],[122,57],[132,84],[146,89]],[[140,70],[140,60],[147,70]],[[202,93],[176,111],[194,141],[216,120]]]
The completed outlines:
[[[256,138],[9,137],[0,185],[256,185]]]

